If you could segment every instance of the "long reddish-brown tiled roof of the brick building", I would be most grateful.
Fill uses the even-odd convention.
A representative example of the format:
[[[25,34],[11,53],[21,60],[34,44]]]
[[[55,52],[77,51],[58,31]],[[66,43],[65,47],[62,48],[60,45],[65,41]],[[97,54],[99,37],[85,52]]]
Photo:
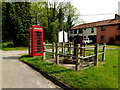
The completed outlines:
[[[98,21],[98,22],[77,25],[75,27],[72,27],[71,29],[81,29],[81,28],[88,28],[88,27],[113,25],[113,24],[118,24],[118,23],[120,23],[120,19],[109,19],[109,20],[104,20],[104,21]]]

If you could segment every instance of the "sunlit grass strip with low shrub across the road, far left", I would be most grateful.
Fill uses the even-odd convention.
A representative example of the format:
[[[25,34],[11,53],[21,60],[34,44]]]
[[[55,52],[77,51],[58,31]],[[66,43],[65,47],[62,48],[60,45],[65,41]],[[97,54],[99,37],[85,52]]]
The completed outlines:
[[[2,50],[28,50],[28,47],[14,47],[13,42],[2,43]]]

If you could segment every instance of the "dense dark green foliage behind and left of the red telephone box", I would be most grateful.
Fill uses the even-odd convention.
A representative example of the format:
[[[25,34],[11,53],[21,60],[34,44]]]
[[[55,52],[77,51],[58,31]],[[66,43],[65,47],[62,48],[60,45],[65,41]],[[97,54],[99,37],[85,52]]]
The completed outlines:
[[[27,46],[31,25],[29,2],[3,3],[3,40],[13,40],[14,46]],[[7,37],[6,37],[7,35]]]

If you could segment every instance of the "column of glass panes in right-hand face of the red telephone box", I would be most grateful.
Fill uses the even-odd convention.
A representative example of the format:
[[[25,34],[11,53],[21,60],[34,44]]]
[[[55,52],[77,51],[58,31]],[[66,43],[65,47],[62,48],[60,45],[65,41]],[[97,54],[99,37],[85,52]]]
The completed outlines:
[[[35,32],[35,53],[41,53],[41,32]]]

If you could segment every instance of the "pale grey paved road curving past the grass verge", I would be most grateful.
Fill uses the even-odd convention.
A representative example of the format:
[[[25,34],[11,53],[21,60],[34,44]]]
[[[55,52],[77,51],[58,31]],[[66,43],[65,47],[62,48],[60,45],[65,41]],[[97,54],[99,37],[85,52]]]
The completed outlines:
[[[2,88],[59,88],[18,58],[27,51],[2,51]]]

